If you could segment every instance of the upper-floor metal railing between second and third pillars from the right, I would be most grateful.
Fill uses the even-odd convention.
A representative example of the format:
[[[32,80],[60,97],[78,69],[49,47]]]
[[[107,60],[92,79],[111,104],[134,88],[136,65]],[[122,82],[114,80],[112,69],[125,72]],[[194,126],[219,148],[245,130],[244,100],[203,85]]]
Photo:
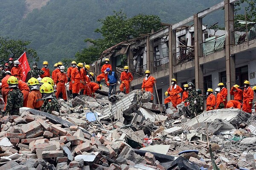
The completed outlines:
[[[195,59],[195,49],[194,47],[183,49],[180,52],[174,53],[173,57],[175,58],[176,61],[174,66],[186,63],[188,61],[192,61]]]

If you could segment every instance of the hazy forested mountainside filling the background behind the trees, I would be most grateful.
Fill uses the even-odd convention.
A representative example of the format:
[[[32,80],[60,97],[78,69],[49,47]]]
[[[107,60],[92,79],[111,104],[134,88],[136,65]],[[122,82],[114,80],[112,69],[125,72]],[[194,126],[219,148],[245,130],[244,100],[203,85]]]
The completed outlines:
[[[27,1],[27,0],[26,0]],[[38,0],[40,1],[40,0]],[[128,17],[158,15],[164,23],[177,23],[213,6],[221,0],[49,0],[40,9],[28,12],[25,0],[0,0],[0,37],[31,41],[40,61],[52,65],[61,58],[73,58],[89,44],[85,38],[98,38],[98,20],[123,10]],[[224,22],[219,10],[204,18],[209,25]],[[218,17],[218,16],[221,16]]]

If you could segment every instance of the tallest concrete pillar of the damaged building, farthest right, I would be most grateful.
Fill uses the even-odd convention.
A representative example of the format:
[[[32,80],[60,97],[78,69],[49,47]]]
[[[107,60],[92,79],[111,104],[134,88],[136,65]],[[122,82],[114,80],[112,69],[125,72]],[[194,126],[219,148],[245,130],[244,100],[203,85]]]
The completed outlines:
[[[225,0],[225,52],[226,52],[226,74],[227,74],[227,90],[236,83],[236,63],[235,56],[231,55],[230,47],[233,45],[233,30],[234,30],[234,10],[233,3],[230,0]],[[231,99],[230,93],[227,99]]]

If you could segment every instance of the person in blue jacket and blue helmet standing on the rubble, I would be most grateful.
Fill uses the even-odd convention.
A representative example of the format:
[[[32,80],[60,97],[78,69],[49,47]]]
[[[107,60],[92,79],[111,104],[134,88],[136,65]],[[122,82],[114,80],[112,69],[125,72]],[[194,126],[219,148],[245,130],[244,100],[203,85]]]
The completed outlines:
[[[108,97],[110,97],[111,95],[116,94],[116,84],[118,83],[120,85],[120,82],[116,72],[111,71],[110,68],[107,68],[106,72],[108,72],[108,82],[107,82],[107,84],[109,84]]]

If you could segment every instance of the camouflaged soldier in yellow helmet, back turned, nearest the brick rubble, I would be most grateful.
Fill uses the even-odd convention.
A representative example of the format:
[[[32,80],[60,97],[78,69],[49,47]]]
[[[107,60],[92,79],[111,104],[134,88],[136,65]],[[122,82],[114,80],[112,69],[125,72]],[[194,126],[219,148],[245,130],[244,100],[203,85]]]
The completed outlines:
[[[49,83],[44,83],[40,87],[40,92],[42,93],[42,98],[44,99],[44,104],[41,107],[42,112],[51,113],[52,111],[60,112],[58,100],[53,96],[53,87]]]

